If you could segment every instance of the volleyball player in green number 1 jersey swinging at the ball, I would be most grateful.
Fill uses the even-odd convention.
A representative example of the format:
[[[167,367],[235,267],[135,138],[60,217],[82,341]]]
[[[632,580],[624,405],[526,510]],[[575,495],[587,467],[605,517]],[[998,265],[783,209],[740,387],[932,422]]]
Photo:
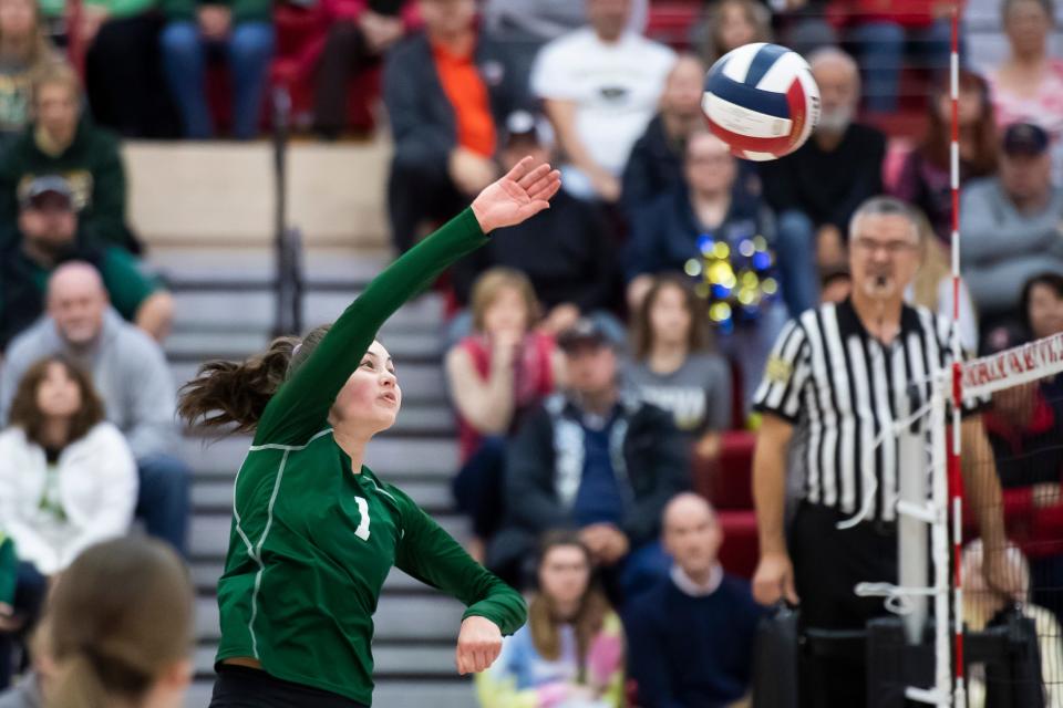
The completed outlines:
[[[205,364],[185,386],[187,420],[255,434],[218,582],[213,708],[369,706],[372,615],[392,565],[468,606],[461,674],[491,666],[502,635],[524,624],[520,595],[363,458],[402,403],[376,331],[486,233],[548,208],[559,187],[557,171],[525,158],[380,273],[330,327],[276,340],[241,364]]]

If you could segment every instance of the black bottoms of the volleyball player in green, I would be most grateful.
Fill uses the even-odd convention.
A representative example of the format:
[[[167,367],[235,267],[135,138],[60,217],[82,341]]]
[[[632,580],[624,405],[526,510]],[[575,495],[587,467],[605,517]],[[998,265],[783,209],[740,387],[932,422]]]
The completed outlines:
[[[367,708],[337,694],[247,666],[218,666],[208,708]]]

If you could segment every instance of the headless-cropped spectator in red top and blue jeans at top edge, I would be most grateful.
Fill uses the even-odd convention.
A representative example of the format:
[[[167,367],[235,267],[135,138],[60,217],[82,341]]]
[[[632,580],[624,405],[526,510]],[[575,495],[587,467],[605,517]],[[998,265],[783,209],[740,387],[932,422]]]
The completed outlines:
[[[830,0],[828,17],[845,40],[857,46],[869,111],[897,110],[906,54],[920,69],[948,69],[952,7],[940,0]]]

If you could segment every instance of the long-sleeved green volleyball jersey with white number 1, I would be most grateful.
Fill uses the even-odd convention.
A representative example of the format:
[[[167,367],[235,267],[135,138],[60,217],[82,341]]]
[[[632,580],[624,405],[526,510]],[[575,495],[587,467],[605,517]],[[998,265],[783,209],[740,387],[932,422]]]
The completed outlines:
[[[369,705],[372,615],[392,565],[513,634],[524,600],[472,560],[406,494],[337,445],[327,417],[381,324],[486,242],[466,209],[369,284],[266,407],[237,475],[217,660]],[[456,629],[456,627],[455,627]]]

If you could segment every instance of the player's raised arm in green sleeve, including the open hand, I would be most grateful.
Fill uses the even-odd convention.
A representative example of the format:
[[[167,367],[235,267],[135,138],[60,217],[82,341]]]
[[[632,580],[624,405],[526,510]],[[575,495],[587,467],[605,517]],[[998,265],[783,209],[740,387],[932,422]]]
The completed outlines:
[[[269,402],[255,434],[256,445],[299,445],[317,433],[388,317],[451,263],[483,246],[486,233],[549,208],[559,187],[556,170],[545,164],[535,167],[525,158],[484,189],[468,209],[384,269]]]

